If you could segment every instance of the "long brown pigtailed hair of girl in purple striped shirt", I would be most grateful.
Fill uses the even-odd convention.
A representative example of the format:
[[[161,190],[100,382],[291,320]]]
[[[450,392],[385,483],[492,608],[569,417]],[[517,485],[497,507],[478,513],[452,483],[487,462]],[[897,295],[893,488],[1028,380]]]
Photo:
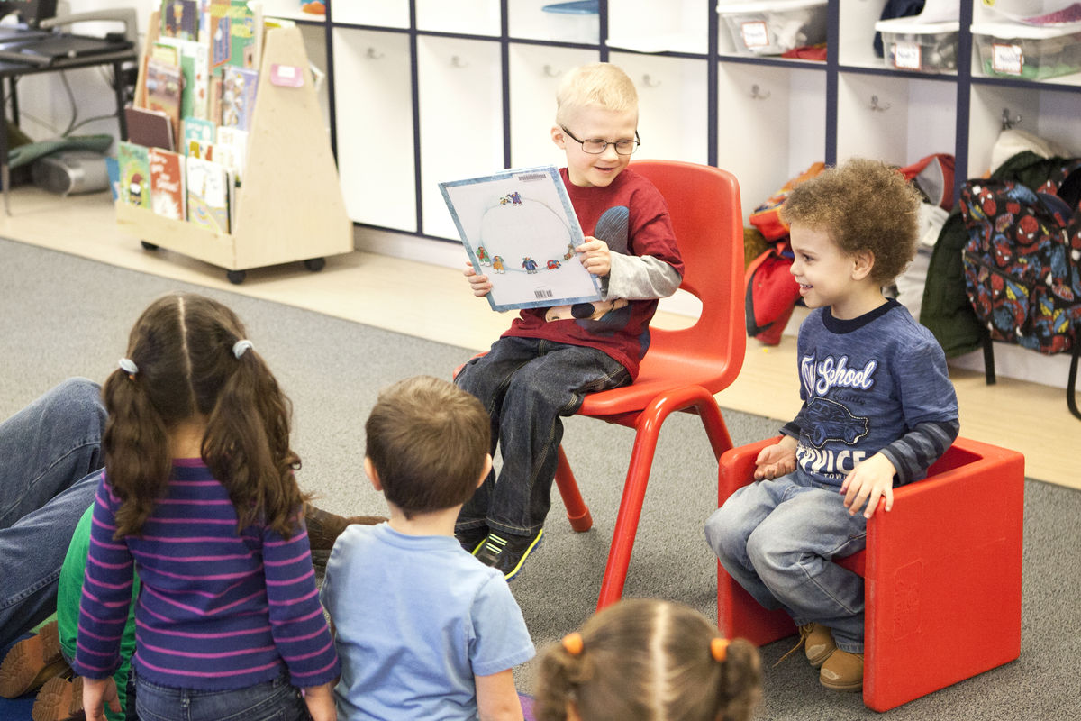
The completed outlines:
[[[203,463],[229,492],[238,533],[256,520],[283,536],[297,530],[307,497],[289,446],[292,405],[254,350],[237,316],[201,295],[175,293],[143,311],[128,341],[129,375],[117,369],[102,397],[108,412],[105,475],[121,499],[116,538],[137,535],[169,485],[170,432],[203,416]]]

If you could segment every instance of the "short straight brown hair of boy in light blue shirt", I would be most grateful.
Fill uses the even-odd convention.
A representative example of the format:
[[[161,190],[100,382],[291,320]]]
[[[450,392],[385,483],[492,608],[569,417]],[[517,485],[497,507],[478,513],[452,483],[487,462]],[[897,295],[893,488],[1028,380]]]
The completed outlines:
[[[412,518],[472,496],[492,431],[476,397],[449,380],[418,375],[383,389],[364,432],[364,452],[384,495]]]

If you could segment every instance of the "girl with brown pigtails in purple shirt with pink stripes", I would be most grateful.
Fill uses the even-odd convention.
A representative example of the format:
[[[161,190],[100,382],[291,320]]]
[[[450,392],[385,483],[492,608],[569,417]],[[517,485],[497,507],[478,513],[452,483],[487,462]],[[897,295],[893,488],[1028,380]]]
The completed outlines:
[[[91,721],[136,602],[142,719],[335,718],[338,676],[316,590],[289,400],[231,310],[152,303],[106,379],[97,489],[74,668]],[[302,693],[303,692],[303,693]]]

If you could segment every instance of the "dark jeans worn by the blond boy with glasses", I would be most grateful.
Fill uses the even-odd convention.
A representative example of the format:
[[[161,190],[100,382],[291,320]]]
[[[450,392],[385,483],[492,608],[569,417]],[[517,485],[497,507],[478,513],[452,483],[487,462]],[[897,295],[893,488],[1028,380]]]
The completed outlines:
[[[492,418],[492,449],[503,454],[458,513],[456,529],[486,525],[510,535],[532,535],[551,506],[551,483],[563,438],[560,416],[574,415],[585,393],[630,382],[608,353],[537,338],[503,337],[470,360],[455,383],[480,399]]]

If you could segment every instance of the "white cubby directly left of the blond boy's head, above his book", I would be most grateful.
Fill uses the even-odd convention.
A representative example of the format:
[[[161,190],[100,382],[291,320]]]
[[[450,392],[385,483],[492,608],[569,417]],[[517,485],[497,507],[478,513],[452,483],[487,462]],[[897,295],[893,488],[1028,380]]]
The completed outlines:
[[[596,63],[596,50],[510,45],[510,164],[565,165],[566,155],[551,141],[556,89],[570,69]]]

